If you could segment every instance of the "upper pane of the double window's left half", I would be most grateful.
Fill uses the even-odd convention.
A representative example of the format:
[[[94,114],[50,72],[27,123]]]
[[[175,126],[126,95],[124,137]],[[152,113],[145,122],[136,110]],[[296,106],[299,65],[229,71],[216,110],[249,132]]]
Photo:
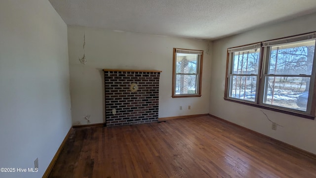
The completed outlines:
[[[234,52],[233,74],[258,74],[260,48]]]

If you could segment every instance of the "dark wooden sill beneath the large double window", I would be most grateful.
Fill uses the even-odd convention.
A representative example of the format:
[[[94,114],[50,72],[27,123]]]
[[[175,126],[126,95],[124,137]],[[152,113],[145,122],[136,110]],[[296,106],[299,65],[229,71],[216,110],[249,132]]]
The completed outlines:
[[[236,102],[236,103],[239,103],[239,104],[245,104],[245,105],[248,105],[248,106],[258,107],[258,108],[262,108],[262,109],[267,109],[267,110],[271,110],[271,111],[276,111],[276,112],[280,112],[280,113],[283,113],[283,114],[289,114],[289,115],[292,115],[292,116],[298,116],[298,117],[302,117],[302,118],[306,118],[306,119],[315,120],[315,116],[312,116],[312,115],[309,115],[309,114],[303,114],[303,113],[294,112],[294,111],[282,110],[282,109],[278,109],[278,108],[274,108],[274,107],[268,107],[268,106],[265,106],[265,105],[259,105],[259,104],[255,104],[255,103],[242,102],[242,101],[239,101],[239,100],[234,100],[234,99],[225,98],[225,97],[224,97],[224,100]]]

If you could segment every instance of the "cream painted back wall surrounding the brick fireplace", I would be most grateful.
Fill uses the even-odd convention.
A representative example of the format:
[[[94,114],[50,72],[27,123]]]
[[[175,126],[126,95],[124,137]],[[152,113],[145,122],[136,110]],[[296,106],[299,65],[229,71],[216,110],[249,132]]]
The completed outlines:
[[[83,56],[85,34],[86,64]],[[104,122],[104,73],[102,69],[161,70],[159,82],[159,118],[208,113],[210,91],[210,54],[207,41],[116,32],[104,29],[68,26],[69,65],[73,125]],[[204,50],[202,96],[172,98],[173,47]],[[210,46],[211,47],[211,46]],[[179,110],[179,106],[183,110]],[[191,105],[191,110],[188,110]]]

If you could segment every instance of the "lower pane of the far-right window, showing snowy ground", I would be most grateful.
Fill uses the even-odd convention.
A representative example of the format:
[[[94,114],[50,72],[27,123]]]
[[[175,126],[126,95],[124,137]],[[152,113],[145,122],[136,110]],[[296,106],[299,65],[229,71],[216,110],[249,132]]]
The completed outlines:
[[[264,103],[306,111],[310,77],[266,77]]]

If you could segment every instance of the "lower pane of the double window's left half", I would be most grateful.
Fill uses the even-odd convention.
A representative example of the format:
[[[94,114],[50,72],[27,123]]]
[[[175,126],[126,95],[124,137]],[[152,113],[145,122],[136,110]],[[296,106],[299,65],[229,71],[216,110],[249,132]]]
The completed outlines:
[[[257,76],[231,76],[230,97],[255,101]]]

